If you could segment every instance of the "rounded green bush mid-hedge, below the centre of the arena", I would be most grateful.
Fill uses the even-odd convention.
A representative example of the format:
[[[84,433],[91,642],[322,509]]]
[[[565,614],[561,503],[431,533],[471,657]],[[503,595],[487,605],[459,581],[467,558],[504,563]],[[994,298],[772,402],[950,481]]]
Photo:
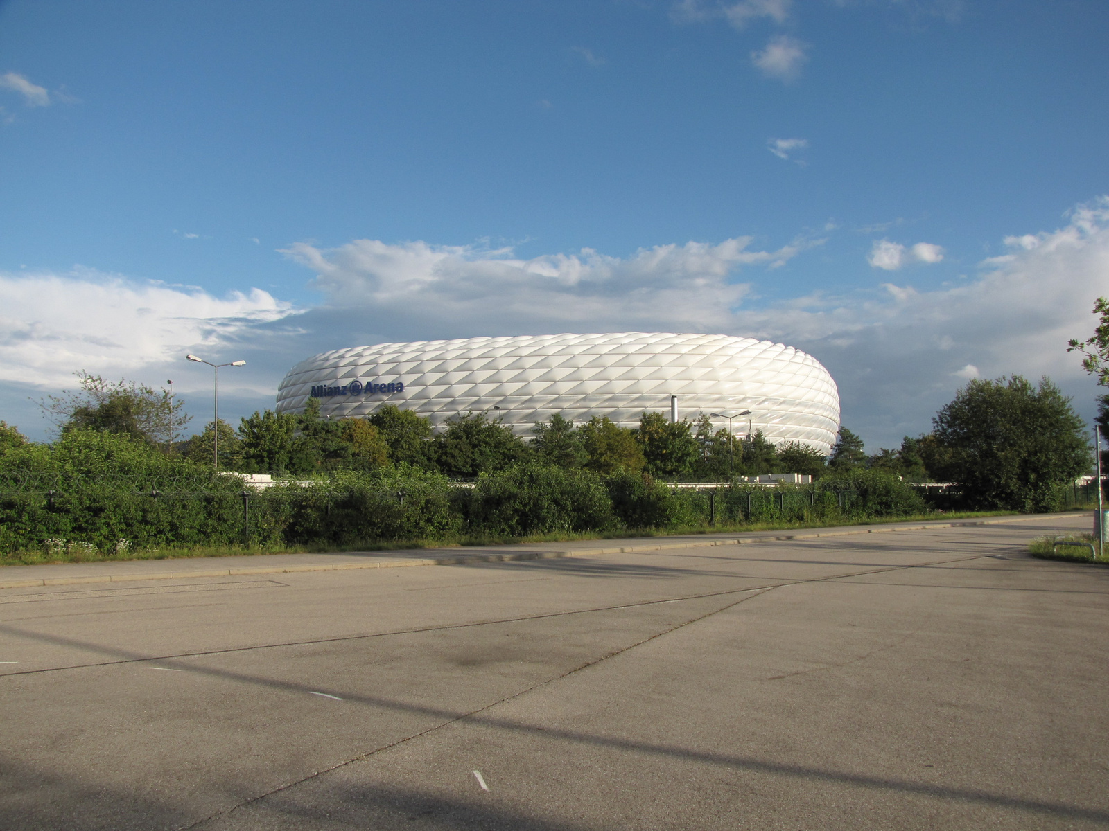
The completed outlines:
[[[472,533],[529,536],[613,524],[604,484],[587,470],[525,463],[484,473],[466,503]]]

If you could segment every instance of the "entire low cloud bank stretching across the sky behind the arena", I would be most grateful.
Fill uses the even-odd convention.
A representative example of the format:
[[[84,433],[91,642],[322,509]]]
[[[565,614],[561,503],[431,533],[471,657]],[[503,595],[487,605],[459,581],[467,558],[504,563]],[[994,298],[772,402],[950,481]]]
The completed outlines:
[[[94,271],[0,274],[0,381],[64,386],[81,368],[143,379],[185,351],[218,357],[233,346],[231,357],[251,361],[248,412],[273,406],[288,367],[345,346],[692,331],[811,352],[840,384],[844,423],[872,451],[927,430],[932,414],[976,377],[1050,375],[1091,411],[1096,387],[1066,343],[1092,329],[1092,301],[1109,287],[1109,198],[1075,208],[1056,230],[1004,242],[1003,255],[956,285],[922,290],[885,281],[773,302],[760,298],[760,285],[786,264],[804,268],[805,245],[761,249],[735,237],[627,257],[584,249],[523,259],[511,249],[426,242],[297,243],[284,254],[315,275],[322,297],[304,310],[258,289],[218,298]],[[898,252],[889,264],[943,256],[934,244]]]

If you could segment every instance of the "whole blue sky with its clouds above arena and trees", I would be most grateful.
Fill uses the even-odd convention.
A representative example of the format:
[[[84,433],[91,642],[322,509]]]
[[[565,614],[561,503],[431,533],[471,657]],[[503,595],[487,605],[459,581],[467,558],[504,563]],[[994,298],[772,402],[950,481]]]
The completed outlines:
[[[78,369],[225,414],[381,340],[724,331],[871,450],[1109,294],[1098,0],[0,2],[0,419]]]

